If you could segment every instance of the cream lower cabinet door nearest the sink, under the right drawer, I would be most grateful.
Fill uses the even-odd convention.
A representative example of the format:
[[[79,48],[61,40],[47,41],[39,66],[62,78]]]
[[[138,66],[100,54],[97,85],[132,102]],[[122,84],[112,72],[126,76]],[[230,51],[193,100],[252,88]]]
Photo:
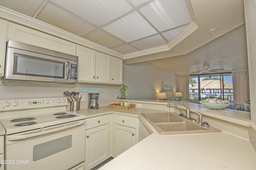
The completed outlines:
[[[114,124],[114,157],[136,144],[136,128]]]

